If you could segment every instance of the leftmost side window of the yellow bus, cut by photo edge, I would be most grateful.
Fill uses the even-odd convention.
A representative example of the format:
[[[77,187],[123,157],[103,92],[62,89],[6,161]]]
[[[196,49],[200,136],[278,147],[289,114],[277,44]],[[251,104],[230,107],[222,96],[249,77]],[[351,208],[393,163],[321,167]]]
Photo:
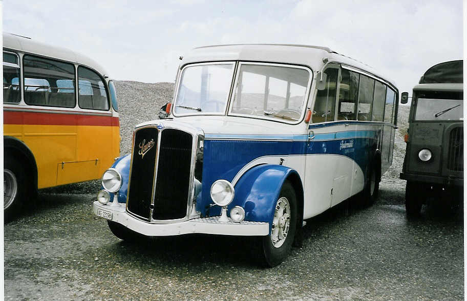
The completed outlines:
[[[19,60],[14,53],[3,53],[3,102],[21,101],[19,91]]]

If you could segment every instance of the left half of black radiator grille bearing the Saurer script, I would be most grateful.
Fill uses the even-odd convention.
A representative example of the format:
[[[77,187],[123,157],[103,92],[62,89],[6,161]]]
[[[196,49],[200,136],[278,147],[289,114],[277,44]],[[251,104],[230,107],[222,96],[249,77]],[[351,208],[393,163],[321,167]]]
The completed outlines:
[[[133,145],[128,211],[147,221],[151,216],[150,205],[157,159],[158,132],[155,127],[142,128],[135,133]]]

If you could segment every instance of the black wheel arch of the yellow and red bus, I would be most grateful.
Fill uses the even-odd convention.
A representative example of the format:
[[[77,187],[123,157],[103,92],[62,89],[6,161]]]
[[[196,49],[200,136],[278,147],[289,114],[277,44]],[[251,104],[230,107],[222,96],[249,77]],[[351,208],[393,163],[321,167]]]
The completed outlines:
[[[12,156],[27,163],[34,191],[37,191],[37,163],[31,149],[21,140],[12,136],[3,138],[4,157]]]

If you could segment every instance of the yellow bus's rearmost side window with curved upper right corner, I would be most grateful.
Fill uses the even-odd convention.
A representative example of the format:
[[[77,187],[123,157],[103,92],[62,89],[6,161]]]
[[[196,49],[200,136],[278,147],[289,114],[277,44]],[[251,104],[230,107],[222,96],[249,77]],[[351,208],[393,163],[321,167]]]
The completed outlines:
[[[81,109],[109,110],[102,78],[86,67],[78,67],[78,105]]]

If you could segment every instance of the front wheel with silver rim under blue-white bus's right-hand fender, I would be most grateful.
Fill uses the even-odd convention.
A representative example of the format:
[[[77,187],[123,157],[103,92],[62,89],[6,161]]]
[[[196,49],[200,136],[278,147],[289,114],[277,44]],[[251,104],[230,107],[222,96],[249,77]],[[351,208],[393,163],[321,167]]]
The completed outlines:
[[[262,265],[274,267],[287,257],[295,235],[296,221],[295,190],[286,181],[275,205],[271,234],[261,238],[260,261]]]

